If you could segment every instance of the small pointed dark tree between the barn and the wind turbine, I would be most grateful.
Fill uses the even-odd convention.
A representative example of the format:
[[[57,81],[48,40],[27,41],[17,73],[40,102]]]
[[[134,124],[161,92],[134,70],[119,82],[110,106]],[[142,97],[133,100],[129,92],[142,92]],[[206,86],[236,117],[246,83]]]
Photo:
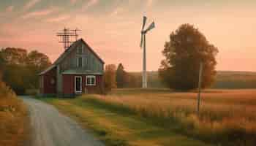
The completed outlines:
[[[129,80],[129,76],[127,72],[124,71],[123,64],[118,64],[118,67],[116,69],[116,84],[117,88],[124,88],[127,86]]]

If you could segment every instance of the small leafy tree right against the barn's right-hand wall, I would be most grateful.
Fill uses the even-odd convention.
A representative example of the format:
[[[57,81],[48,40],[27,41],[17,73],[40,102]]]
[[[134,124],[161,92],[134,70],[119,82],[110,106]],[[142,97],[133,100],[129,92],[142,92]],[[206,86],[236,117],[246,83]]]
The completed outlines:
[[[112,88],[116,88],[116,65],[109,64],[105,66],[105,90],[111,91]]]

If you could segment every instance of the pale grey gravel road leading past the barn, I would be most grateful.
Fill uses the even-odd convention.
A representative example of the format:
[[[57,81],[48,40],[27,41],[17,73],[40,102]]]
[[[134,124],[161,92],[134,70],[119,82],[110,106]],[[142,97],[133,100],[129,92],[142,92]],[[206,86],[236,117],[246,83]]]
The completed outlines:
[[[102,146],[74,120],[62,115],[53,106],[37,99],[23,97],[31,117],[31,145],[37,146]]]

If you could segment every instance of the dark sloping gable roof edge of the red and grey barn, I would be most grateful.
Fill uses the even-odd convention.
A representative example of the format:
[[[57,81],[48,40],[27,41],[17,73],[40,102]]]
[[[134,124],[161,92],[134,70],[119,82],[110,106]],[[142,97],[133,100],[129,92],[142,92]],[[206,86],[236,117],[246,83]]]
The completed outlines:
[[[60,64],[61,61],[63,61],[64,58],[66,58],[67,55],[69,55],[69,53],[72,52],[72,50],[74,50],[76,47],[78,47],[78,45],[80,45],[80,43],[83,43],[84,45],[86,45],[86,48],[88,48],[91,51],[91,53],[93,53],[99,59],[99,61],[102,62],[102,64],[105,64],[102,58],[100,58],[99,55],[97,55],[97,53],[95,53],[94,50],[92,50],[91,47],[83,39],[78,39],[77,41],[73,42],[72,45],[70,45],[70,47],[67,48],[67,50],[65,50],[64,53],[62,53],[59,56],[59,58],[57,58],[56,61],[53,62],[51,66],[49,66],[43,72],[40,72],[39,75],[45,74],[46,72],[50,71],[51,69],[56,67],[58,64]]]

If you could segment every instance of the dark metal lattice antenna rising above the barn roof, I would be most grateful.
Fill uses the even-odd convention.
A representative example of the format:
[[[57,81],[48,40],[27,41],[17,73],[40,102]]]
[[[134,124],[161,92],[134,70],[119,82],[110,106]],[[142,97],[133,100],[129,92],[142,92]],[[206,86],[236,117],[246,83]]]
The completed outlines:
[[[72,42],[78,40],[78,31],[80,31],[78,28],[75,28],[75,30],[64,28],[63,30],[57,33],[57,36],[61,38],[61,41],[59,42],[63,43],[64,45],[64,50],[67,50],[67,48],[69,48]]]

